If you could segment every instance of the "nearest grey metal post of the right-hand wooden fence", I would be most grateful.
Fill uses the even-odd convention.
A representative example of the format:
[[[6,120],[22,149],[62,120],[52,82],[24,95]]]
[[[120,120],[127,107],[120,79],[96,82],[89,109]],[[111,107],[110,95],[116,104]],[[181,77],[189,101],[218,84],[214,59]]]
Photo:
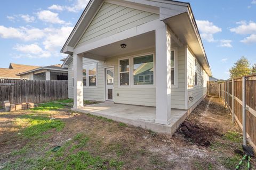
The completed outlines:
[[[246,101],[245,101],[245,77],[242,80],[242,102],[243,102],[243,145],[246,145]]]

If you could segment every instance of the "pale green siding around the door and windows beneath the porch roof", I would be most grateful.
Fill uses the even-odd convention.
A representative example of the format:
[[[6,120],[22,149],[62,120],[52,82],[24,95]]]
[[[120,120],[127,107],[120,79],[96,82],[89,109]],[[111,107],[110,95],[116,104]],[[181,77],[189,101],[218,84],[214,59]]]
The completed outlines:
[[[152,52],[154,49],[142,50],[129,56],[137,56],[142,53]],[[185,51],[184,47],[178,48],[178,88],[172,88],[172,108],[185,109]],[[115,66],[115,103],[156,106],[156,88],[120,88],[118,87],[118,58],[127,55],[107,58],[106,62],[98,61],[98,87],[83,88],[85,100],[104,101],[104,68]],[[92,64],[97,61],[83,58],[83,65]],[[69,64],[69,98],[73,98],[72,67]],[[157,82],[156,82],[157,83]],[[117,96],[119,94],[119,96]]]

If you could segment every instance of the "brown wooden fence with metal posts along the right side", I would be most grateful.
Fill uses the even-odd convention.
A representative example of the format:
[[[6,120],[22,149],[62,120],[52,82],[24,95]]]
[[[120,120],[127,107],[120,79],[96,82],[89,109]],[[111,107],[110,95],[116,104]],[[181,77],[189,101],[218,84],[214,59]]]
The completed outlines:
[[[243,145],[247,140],[256,151],[256,75],[208,82],[207,89],[207,95],[222,98],[232,121],[243,131]]]

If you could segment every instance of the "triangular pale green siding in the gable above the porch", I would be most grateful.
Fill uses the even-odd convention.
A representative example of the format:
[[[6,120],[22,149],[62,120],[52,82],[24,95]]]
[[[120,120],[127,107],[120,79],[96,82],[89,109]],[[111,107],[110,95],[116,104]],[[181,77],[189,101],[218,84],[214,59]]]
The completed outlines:
[[[87,44],[143,23],[158,19],[159,15],[133,8],[104,3],[84,32],[77,46]]]

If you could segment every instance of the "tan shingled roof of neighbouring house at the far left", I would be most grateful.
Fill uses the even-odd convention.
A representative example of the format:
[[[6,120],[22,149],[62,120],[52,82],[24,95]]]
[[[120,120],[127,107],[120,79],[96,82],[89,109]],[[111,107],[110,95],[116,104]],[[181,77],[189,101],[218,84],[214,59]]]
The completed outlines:
[[[26,72],[28,70],[36,69],[38,67],[39,66],[10,63],[8,69],[0,68],[0,79],[9,79],[9,80],[20,79],[20,76],[16,74],[21,72]]]

